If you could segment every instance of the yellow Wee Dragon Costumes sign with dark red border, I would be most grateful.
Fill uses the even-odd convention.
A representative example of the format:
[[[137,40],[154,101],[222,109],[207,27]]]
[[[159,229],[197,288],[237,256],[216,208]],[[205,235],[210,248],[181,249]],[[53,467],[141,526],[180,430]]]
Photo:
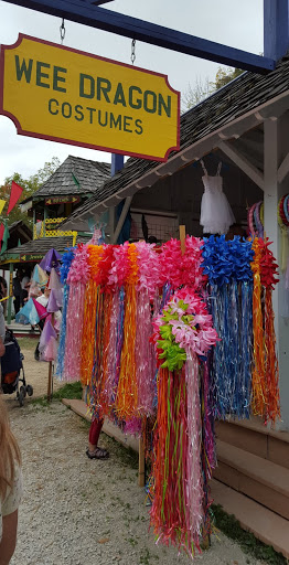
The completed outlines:
[[[20,34],[1,47],[0,81],[18,134],[157,161],[180,148],[165,75]]]

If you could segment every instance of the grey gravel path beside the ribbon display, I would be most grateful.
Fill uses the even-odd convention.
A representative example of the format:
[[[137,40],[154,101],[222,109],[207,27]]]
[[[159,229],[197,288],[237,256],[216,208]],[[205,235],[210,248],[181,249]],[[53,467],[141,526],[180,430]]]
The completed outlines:
[[[36,363],[41,383],[44,365]],[[26,361],[28,364],[28,361]],[[46,371],[45,371],[46,373]],[[44,386],[45,388],[45,386]],[[23,408],[7,397],[23,457],[24,497],[11,565],[189,565],[173,547],[156,546],[137,469],[110,438],[107,461],[88,460],[87,424],[53,402]],[[258,565],[225,535],[197,556],[203,565]]]

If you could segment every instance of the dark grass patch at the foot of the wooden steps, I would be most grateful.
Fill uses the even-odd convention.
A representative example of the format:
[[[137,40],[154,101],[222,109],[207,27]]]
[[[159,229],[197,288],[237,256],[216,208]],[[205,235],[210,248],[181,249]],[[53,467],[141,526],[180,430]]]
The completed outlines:
[[[214,523],[227,537],[238,543],[242,550],[259,561],[270,565],[286,565],[288,562],[281,553],[277,553],[270,545],[266,545],[246,532],[233,514],[227,514],[220,504],[212,504]]]

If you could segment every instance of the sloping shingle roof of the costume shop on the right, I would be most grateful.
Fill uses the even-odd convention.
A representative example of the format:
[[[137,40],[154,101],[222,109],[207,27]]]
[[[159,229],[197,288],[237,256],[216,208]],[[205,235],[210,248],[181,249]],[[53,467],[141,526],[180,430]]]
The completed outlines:
[[[181,116],[180,151],[288,89],[288,55],[278,63],[275,71],[267,75],[243,73]],[[168,163],[175,154],[176,152],[170,153]],[[97,194],[78,206],[66,222],[79,216],[79,214],[88,213],[92,206],[117,194],[126,185],[131,184],[133,180],[137,181],[158,166],[160,163],[154,161],[137,158],[128,159],[124,169],[107,180]]]

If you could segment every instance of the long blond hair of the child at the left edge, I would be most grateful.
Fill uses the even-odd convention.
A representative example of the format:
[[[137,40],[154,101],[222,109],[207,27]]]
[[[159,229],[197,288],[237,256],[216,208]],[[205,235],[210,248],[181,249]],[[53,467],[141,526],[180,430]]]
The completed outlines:
[[[0,500],[4,500],[7,489],[14,480],[14,465],[21,463],[20,450],[10,429],[8,412],[0,395]]]

